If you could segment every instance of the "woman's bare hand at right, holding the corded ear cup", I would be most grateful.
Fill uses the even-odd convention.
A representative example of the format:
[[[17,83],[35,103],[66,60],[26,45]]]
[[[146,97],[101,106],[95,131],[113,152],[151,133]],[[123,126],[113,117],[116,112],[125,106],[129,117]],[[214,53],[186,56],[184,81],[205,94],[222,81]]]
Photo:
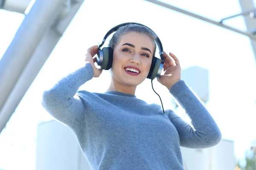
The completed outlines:
[[[170,88],[180,80],[181,76],[179,60],[174,54],[169,54],[170,57],[168,54],[166,54],[166,52],[163,52],[163,57],[165,58],[163,64],[164,74],[157,78],[157,81],[160,82],[162,85],[166,86],[168,90],[170,90]],[[174,59],[174,61],[171,59],[171,57]]]

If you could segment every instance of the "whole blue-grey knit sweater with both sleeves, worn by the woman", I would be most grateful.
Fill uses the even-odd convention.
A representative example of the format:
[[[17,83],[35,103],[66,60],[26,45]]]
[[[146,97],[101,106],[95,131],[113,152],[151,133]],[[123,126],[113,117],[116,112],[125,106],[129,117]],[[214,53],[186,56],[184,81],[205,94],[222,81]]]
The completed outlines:
[[[169,92],[194,128],[172,110],[163,114],[160,105],[135,95],[78,91],[92,78],[93,67],[86,63],[45,91],[42,100],[76,134],[92,170],[183,170],[180,146],[212,147],[221,140],[212,116],[183,80]]]

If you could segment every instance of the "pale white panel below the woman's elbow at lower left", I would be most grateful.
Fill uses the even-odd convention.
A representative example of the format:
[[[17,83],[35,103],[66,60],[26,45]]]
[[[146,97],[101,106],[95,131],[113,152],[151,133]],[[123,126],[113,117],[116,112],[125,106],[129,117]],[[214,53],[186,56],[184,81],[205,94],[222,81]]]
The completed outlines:
[[[73,131],[55,120],[38,125],[36,170],[91,170]]]

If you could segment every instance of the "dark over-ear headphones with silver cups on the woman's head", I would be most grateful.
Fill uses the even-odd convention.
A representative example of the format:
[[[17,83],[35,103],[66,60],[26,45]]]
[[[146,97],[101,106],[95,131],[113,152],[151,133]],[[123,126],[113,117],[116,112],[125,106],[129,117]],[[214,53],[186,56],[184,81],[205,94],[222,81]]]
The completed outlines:
[[[113,49],[111,47],[104,47],[104,48],[101,49],[102,45],[104,44],[105,40],[107,39],[107,37],[110,34],[117,31],[118,28],[120,28],[122,26],[129,25],[129,24],[144,26],[143,24],[140,24],[140,23],[122,23],[122,24],[119,24],[118,26],[113,27],[111,30],[109,30],[107,32],[107,34],[103,38],[102,44],[99,45],[97,56],[96,56],[96,62],[100,66],[100,68],[102,68],[103,70],[109,70],[112,66]],[[148,28],[147,26],[145,26],[145,27]],[[148,29],[151,30],[150,28],[148,28]],[[151,31],[154,32],[153,30],[151,30]],[[161,72],[163,70],[163,63],[164,63],[164,60],[165,60],[163,58],[163,45],[162,45],[160,39],[157,37],[157,39],[155,41],[156,41],[157,46],[159,48],[159,54],[160,54],[160,57],[162,59],[162,62],[161,62],[161,59],[159,59],[157,57],[153,57],[151,67],[150,67],[150,70],[149,70],[148,76],[147,76],[148,79],[154,79],[155,77],[160,77]]]

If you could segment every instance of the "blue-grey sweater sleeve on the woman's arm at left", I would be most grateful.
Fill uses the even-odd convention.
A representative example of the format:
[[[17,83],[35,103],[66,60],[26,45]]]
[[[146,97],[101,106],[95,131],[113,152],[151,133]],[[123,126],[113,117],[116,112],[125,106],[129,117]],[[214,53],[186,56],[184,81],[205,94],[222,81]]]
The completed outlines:
[[[44,91],[41,102],[43,107],[55,119],[70,127],[82,124],[86,106],[76,93],[81,85],[92,78],[93,67],[87,62]]]

